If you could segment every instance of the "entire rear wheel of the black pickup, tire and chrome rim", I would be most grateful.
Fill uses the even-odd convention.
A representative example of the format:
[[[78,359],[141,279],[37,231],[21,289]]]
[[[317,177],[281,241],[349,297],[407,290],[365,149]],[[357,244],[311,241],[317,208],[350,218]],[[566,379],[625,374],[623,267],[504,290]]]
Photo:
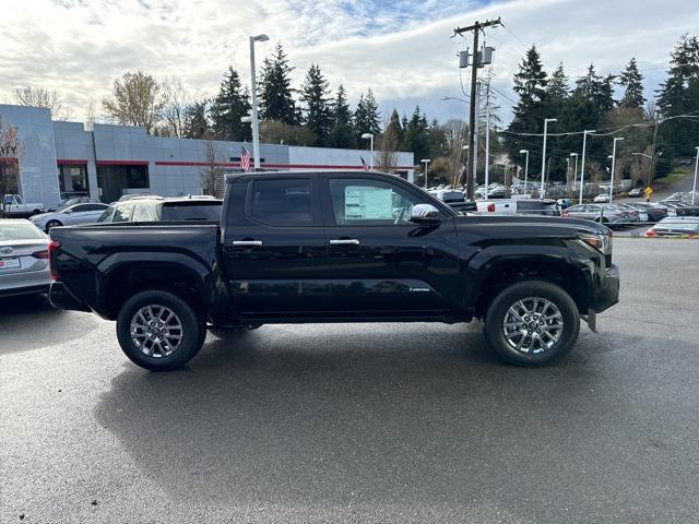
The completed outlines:
[[[129,359],[151,371],[185,366],[201,349],[201,314],[177,295],[153,289],[129,298],[117,317],[117,337]]]

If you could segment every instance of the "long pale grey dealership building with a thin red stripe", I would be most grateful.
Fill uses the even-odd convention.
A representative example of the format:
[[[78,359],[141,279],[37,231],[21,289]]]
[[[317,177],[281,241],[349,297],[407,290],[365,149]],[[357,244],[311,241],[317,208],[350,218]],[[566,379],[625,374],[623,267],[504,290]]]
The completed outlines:
[[[28,202],[56,205],[63,193],[85,193],[104,202],[125,193],[164,196],[201,193],[201,172],[210,164],[203,140],[152,136],[145,129],[52,121],[48,109],[0,105],[3,127],[14,126],[20,152],[0,156],[0,169],[16,165],[16,191]],[[214,142],[216,162],[239,168],[244,144]],[[245,144],[252,152],[250,144]],[[413,153],[398,153],[394,172],[413,181]],[[362,169],[367,150],[260,144],[265,169]]]

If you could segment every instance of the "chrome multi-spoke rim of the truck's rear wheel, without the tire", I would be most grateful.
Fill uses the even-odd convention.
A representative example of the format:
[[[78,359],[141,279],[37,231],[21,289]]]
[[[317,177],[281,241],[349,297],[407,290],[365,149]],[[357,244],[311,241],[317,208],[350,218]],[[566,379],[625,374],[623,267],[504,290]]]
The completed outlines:
[[[131,340],[149,357],[169,357],[182,343],[182,322],[165,306],[144,306],[131,319]]]

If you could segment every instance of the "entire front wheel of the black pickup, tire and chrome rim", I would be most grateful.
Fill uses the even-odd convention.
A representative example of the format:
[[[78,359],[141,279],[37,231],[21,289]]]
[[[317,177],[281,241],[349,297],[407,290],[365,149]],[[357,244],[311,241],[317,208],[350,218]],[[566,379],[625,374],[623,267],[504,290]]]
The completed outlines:
[[[537,366],[568,353],[580,332],[576,302],[564,289],[544,281],[513,284],[493,300],[485,336],[505,360]]]

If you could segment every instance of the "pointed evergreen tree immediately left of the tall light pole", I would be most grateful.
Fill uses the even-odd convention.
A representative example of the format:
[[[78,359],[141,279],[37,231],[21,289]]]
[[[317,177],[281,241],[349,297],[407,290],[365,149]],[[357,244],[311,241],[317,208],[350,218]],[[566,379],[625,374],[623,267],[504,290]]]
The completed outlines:
[[[217,140],[250,140],[250,126],[240,118],[250,114],[250,95],[247,87],[240,85],[238,72],[228,68],[224,73],[218,94],[211,106],[211,120],[214,138]]]

